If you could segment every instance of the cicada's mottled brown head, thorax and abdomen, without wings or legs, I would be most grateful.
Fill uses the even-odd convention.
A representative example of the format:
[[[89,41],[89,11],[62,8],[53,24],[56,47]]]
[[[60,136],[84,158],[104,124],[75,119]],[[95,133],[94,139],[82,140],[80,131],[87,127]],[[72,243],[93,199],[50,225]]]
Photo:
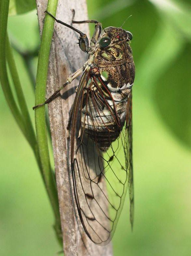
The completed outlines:
[[[119,136],[125,123],[125,112],[127,98],[130,90],[123,88],[133,84],[135,78],[135,66],[132,57],[132,50],[126,40],[126,34],[122,28],[109,27],[103,37],[111,38],[110,46],[107,48],[100,48],[97,44],[94,53],[94,63],[92,67],[98,67],[99,73],[106,71],[109,74],[107,81],[102,81],[105,84],[95,84],[97,89],[92,94],[98,94],[103,98],[104,106],[101,113],[97,112],[99,106],[92,100],[91,93],[89,94],[89,106],[83,110],[91,113],[91,118],[86,118],[85,131],[93,140],[96,140],[99,148],[105,150],[112,141],[115,141]],[[100,36],[101,38],[101,36]],[[101,88],[103,95],[98,92],[98,87]],[[121,89],[122,88],[122,89]],[[113,89],[113,90],[112,90]],[[120,90],[116,90],[120,89]],[[90,87],[89,87],[89,90]],[[108,90],[110,94],[108,94]],[[96,95],[95,95],[96,98]],[[111,101],[111,109],[107,107],[106,101]],[[122,102],[123,100],[123,102]],[[116,106],[116,111],[113,105]],[[117,126],[113,116],[118,116],[120,120],[120,127]],[[88,116],[88,115],[87,115]],[[84,115],[82,114],[82,120]],[[113,132],[108,132],[108,128]]]

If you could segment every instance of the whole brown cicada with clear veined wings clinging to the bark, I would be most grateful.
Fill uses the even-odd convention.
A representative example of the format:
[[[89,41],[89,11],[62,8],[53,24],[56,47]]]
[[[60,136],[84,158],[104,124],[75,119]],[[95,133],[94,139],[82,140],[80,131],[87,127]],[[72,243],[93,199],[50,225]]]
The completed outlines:
[[[115,231],[127,188],[133,225],[132,85],[135,66],[129,45],[132,34],[122,27],[102,29],[101,23],[95,20],[74,21],[74,14],[73,10],[72,23],[95,23],[90,44],[86,34],[51,17],[79,33],[78,44],[88,54],[88,60],[43,104],[57,97],[61,89],[81,75],[70,118],[73,189],[86,234],[94,243],[105,245]]]

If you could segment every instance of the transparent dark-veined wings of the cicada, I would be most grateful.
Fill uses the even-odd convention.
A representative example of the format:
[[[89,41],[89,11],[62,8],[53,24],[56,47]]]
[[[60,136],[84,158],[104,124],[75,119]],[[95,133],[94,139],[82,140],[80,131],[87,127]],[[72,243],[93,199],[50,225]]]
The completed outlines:
[[[101,85],[106,87],[85,70],[73,108],[71,166],[83,228],[94,243],[105,245],[115,231],[128,187],[133,222],[132,95],[125,101],[126,120],[120,126],[112,96],[106,99]],[[110,119],[118,125],[110,125]],[[118,127],[115,141],[112,127]],[[104,140],[107,149],[100,145]]]

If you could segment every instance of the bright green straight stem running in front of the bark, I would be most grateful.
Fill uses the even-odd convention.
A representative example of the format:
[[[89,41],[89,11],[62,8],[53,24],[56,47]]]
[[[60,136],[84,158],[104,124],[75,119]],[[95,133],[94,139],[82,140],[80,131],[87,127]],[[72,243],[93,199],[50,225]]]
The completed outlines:
[[[53,15],[56,14],[58,0],[49,0],[47,10]],[[36,92],[35,104],[40,104],[45,101],[46,95],[46,82],[48,75],[49,54],[51,49],[51,39],[53,35],[54,20],[49,16],[45,16],[44,26],[42,30],[41,45],[38,55],[37,65],[37,79],[36,79]],[[58,194],[56,188],[55,177],[51,172],[47,130],[45,121],[45,107],[37,108],[35,110],[35,123],[37,131],[37,143],[42,165],[43,177],[45,180],[48,195],[56,218],[55,230],[57,237],[62,244],[60,212],[58,203]]]

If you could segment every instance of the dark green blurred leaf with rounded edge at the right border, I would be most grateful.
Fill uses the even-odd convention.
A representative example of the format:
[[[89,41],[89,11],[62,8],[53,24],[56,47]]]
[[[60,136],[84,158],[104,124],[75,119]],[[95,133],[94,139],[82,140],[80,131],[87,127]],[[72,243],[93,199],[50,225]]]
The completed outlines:
[[[166,69],[162,80],[155,84],[155,100],[165,124],[173,134],[191,147],[191,47],[187,44],[176,61]]]

